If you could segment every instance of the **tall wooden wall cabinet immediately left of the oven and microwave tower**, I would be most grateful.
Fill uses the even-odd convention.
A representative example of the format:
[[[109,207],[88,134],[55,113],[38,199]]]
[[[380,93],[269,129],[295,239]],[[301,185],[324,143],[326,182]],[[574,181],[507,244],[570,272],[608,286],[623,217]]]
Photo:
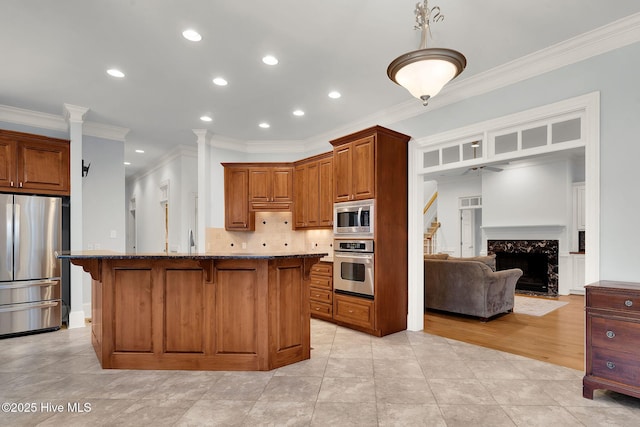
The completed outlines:
[[[333,226],[333,159],[324,153],[296,162],[294,168],[296,229]]]

